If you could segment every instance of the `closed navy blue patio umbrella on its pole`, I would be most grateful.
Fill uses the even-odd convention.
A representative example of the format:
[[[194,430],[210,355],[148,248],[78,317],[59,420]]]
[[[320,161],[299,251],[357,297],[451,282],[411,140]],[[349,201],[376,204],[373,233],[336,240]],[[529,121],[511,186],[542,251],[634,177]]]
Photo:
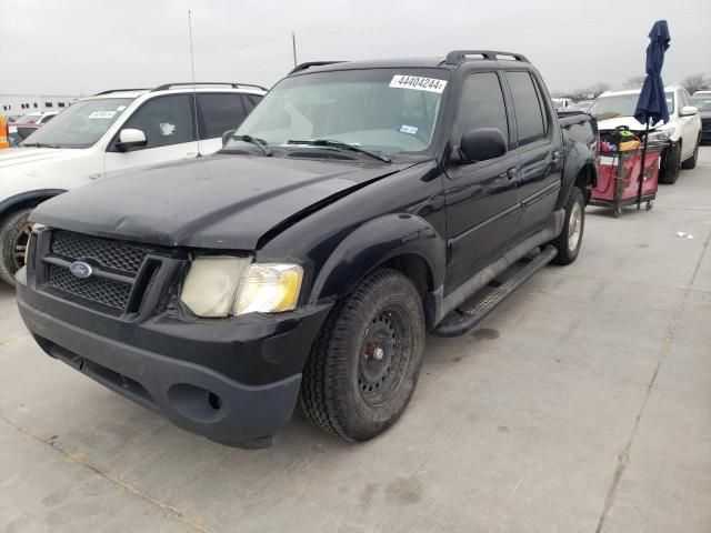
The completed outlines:
[[[658,122],[669,122],[669,109],[664,95],[664,82],[662,81],[662,66],[664,52],[669,49],[669,26],[665,20],[658,20],[649,32],[650,43],[647,47],[647,77],[642,86],[642,92],[637,101],[634,118],[645,124],[644,144],[642,147],[642,169],[640,170],[640,184],[637,193],[637,209],[642,201],[642,181],[644,180],[644,159],[647,157],[647,140],[649,127]]]

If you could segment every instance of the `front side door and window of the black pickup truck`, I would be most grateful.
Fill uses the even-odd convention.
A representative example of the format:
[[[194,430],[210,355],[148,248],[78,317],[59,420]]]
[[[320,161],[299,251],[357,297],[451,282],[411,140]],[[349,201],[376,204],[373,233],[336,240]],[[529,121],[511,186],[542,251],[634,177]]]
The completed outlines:
[[[510,139],[510,120],[501,77],[473,72],[462,82],[451,144],[467,131],[497,128]],[[509,151],[489,161],[450,164],[445,205],[450,261],[445,286],[455,289],[511,244],[518,232],[517,154]]]

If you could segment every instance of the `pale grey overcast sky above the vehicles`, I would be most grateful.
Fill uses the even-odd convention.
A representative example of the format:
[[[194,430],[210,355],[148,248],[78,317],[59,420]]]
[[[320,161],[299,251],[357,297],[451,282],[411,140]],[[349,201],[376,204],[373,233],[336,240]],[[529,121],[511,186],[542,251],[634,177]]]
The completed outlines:
[[[667,19],[664,81],[711,74],[710,0],[0,0],[0,93],[93,93],[190,80],[271,86],[299,61],[521,52],[549,89],[644,73]]]

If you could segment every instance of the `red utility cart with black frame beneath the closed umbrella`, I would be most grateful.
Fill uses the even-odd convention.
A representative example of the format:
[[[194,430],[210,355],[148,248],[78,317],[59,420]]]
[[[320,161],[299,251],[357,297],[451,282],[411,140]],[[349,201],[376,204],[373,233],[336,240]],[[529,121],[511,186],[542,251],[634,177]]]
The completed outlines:
[[[607,134],[605,134],[607,133]],[[614,218],[622,214],[622,208],[634,205],[642,188],[640,202],[651,210],[657,198],[659,168],[664,143],[649,143],[643,154],[643,144],[634,140],[620,141],[619,131],[601,132],[600,167],[598,183],[590,185],[590,205],[614,210]],[[640,172],[644,160],[644,173]]]

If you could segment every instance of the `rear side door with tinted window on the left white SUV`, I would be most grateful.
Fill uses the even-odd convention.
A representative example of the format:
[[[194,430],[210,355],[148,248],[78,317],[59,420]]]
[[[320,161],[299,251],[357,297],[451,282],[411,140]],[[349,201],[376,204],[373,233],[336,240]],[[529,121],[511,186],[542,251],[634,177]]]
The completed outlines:
[[[222,133],[237,129],[253,108],[246,95],[236,92],[199,92],[197,99],[203,153],[220,150]]]

